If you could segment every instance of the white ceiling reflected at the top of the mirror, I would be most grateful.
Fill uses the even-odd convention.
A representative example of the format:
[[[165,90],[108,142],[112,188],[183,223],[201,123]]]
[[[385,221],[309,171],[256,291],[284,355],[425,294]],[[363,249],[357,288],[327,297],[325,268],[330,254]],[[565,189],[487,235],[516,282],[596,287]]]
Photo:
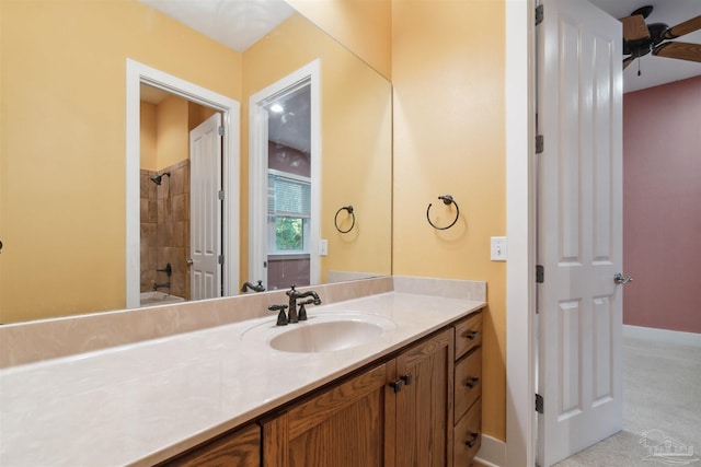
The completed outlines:
[[[295,13],[284,0],[140,1],[235,51],[244,51]]]

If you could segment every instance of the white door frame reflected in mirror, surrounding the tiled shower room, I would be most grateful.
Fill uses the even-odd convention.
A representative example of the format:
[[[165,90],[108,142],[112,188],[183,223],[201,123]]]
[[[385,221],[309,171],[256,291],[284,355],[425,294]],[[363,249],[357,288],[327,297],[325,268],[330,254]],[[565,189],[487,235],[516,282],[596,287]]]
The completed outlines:
[[[209,214],[204,215],[204,219],[209,219],[208,222],[211,221],[212,217],[218,217],[218,223],[211,222],[208,225],[212,225],[212,230],[216,232],[216,238],[218,238],[218,246],[212,248],[216,252],[216,269],[219,271],[218,281],[216,285],[210,288],[212,291],[211,295],[214,296],[229,296],[235,295],[239,290],[239,108],[240,105],[238,102],[226,97],[221,94],[215,93],[202,86],[198,86],[194,83],[186,82],[180,78],[170,75],[162,71],[156,70],[153,68],[147,67],[142,63],[138,63],[134,60],[127,59],[127,125],[126,125],[126,302],[128,308],[135,308],[141,306],[141,180],[146,179],[147,186],[148,184],[154,184],[151,182],[150,177],[160,177],[161,188],[164,184],[173,184],[173,186],[169,188],[175,189],[175,183],[182,183],[191,187],[192,195],[192,178],[193,174],[187,172],[187,175],[183,175],[182,178],[176,179],[174,177],[174,172],[176,168],[180,168],[177,165],[181,160],[175,162],[175,166],[171,167],[165,165],[165,163],[161,163],[156,173],[148,176],[141,175],[141,87],[142,84],[147,84],[151,87],[154,87],[160,91],[164,91],[169,94],[172,94],[181,100],[184,100],[186,106],[191,106],[191,104],[196,104],[196,106],[192,106],[192,108],[206,108],[206,114],[208,116],[218,116],[220,119],[220,124],[216,126],[218,137],[220,137],[220,142],[216,145],[219,148],[219,156],[216,157],[216,165],[218,168],[215,170],[210,179],[218,178],[215,180],[214,185],[220,187],[217,188],[207,188],[210,197],[216,198],[216,208],[210,210]],[[197,110],[199,112],[199,110]],[[203,117],[204,118],[204,117]],[[196,119],[195,119],[196,120]],[[195,121],[193,120],[193,121]],[[186,130],[191,130],[191,128],[186,127]],[[188,144],[187,140],[191,138],[189,131],[185,133],[185,153],[189,154],[188,147],[193,144]],[[176,151],[177,152],[177,151]],[[182,156],[181,156],[182,159]],[[192,157],[187,155],[187,164],[192,163]],[[165,167],[172,168],[166,170]],[[165,175],[165,172],[170,172],[170,175]],[[187,182],[185,182],[187,180]],[[185,189],[183,187],[183,189]],[[183,195],[180,194],[179,195]],[[189,212],[195,211],[195,209],[189,208],[189,199],[191,196],[183,196],[177,201],[179,208],[182,209],[183,212],[187,212],[187,217],[189,218]],[[157,200],[164,199],[166,194],[159,195],[161,198],[157,196]],[[171,200],[171,209],[173,209],[173,200]],[[199,208],[196,211],[202,212]],[[172,215],[172,213],[171,213]],[[184,214],[183,214],[184,215]],[[182,217],[182,215],[181,215]],[[182,221],[182,219],[180,219]],[[169,235],[168,229],[165,229],[165,234]],[[172,235],[171,232],[170,234]],[[191,240],[193,229],[191,230]],[[176,233],[176,235],[181,235],[182,230]],[[180,243],[183,243],[182,238]],[[187,242],[187,245],[192,245],[193,242]],[[183,272],[184,277],[192,276],[191,265],[187,264],[189,260],[193,260],[192,252],[189,252],[188,257],[185,259],[185,269]],[[156,272],[160,276],[157,276],[157,280],[153,282],[157,285],[169,282],[168,279],[168,264],[170,262],[166,258],[158,258],[156,257]],[[172,262],[171,264],[171,278],[175,273],[175,269]],[[161,280],[162,279],[162,280]],[[191,285],[194,282],[191,279]],[[150,287],[153,287],[153,283],[150,283]],[[149,281],[146,282],[149,284]],[[173,284],[171,284],[172,288]],[[160,290],[162,288],[158,288]],[[168,289],[163,287],[163,289]],[[151,290],[152,291],[152,290]],[[198,300],[207,296],[196,296],[192,290],[189,292],[189,297],[192,300]],[[184,297],[183,297],[184,299]],[[149,303],[150,305],[154,303]]]

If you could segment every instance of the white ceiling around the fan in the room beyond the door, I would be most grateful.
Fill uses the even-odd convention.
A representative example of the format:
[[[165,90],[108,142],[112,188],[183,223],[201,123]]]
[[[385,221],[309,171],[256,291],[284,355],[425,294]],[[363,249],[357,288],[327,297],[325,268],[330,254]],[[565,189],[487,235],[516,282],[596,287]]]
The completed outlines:
[[[613,17],[629,16],[644,5],[654,7],[645,20],[647,23],[665,23],[674,26],[701,14],[701,0],[589,0]],[[547,14],[547,13],[545,13]],[[701,31],[697,31],[677,40],[701,44]],[[637,75],[640,62],[641,75]],[[701,63],[655,57],[652,54],[641,57],[623,71],[623,92],[657,86],[673,81],[701,75]]]

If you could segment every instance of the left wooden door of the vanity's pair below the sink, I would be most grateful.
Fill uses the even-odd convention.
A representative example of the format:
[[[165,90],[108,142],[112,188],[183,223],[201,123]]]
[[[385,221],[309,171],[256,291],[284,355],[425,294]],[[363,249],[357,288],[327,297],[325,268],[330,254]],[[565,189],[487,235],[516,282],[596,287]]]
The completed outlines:
[[[381,364],[265,422],[262,465],[388,465],[391,440],[388,443],[386,433],[393,424],[393,411],[387,408],[387,398],[393,395],[388,381],[388,366]]]

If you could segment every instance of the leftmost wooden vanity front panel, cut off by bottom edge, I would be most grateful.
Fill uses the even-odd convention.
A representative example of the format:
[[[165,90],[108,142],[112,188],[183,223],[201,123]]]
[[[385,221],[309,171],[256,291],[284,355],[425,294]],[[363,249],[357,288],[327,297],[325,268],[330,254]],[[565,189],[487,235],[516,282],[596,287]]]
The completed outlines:
[[[168,467],[258,467],[261,465],[261,427],[255,423],[250,424],[162,465]]]

